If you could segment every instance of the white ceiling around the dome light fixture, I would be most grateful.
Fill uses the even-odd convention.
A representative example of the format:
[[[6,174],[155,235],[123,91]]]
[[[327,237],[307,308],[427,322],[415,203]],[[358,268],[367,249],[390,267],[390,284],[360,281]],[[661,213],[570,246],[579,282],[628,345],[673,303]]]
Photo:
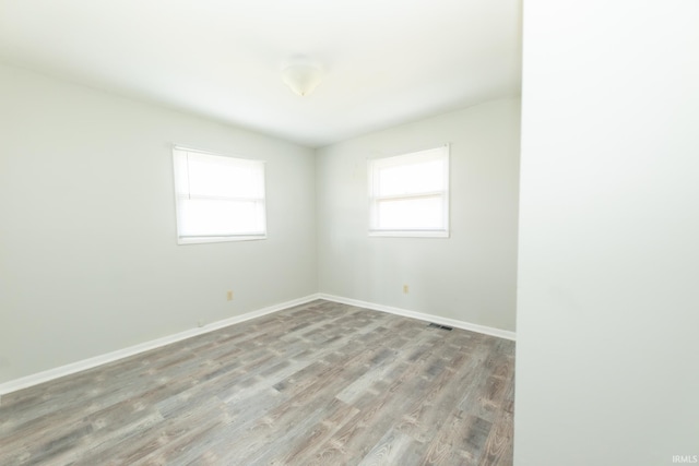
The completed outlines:
[[[519,95],[521,0],[0,0],[0,60],[317,147]]]

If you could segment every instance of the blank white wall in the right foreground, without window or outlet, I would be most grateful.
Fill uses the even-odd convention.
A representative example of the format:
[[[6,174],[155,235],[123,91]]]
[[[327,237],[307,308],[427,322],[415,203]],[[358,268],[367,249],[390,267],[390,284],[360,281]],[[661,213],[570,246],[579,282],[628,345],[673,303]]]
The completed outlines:
[[[518,466],[699,455],[698,25],[524,4]]]

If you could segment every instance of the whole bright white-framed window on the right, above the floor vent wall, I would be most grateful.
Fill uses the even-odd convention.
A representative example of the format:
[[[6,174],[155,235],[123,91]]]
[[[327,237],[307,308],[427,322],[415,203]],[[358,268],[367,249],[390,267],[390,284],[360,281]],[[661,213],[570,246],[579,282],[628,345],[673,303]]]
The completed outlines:
[[[449,237],[449,146],[369,160],[369,235]]]

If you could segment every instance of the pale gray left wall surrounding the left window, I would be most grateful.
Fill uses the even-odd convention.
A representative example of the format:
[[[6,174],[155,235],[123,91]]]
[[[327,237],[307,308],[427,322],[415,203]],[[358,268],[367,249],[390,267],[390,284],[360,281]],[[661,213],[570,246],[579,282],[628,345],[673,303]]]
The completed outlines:
[[[0,383],[317,291],[311,150],[7,67],[0,131]],[[268,240],[177,246],[173,143],[268,162]]]

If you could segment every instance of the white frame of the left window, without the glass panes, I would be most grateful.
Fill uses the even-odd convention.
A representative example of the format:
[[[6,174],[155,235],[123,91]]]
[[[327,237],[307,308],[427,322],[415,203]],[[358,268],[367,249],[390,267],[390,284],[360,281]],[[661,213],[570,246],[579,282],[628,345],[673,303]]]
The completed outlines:
[[[261,212],[262,212],[262,222],[261,222],[261,231],[254,232],[254,234],[250,234],[250,232],[245,232],[245,234],[232,234],[232,235],[200,235],[200,236],[183,236],[181,235],[182,231],[182,214],[181,214],[181,208],[182,208],[182,202],[181,200],[183,199],[185,195],[189,195],[191,196],[192,194],[190,192],[188,192],[189,188],[182,189],[183,187],[179,187],[179,182],[178,180],[180,179],[180,170],[181,170],[181,165],[179,163],[179,158],[182,157],[182,155],[185,157],[189,157],[189,154],[199,154],[199,155],[204,155],[208,157],[222,157],[227,159],[228,162],[234,162],[237,163],[239,162],[240,165],[259,165],[259,169],[261,170],[261,177],[262,177],[262,186],[261,186],[261,191],[262,191],[262,196],[258,198],[258,196],[221,196],[221,198],[210,198],[212,201],[220,201],[220,200],[237,200],[237,201],[246,201],[246,202],[260,202],[262,204],[261,206]],[[252,240],[262,240],[262,239],[266,239],[266,174],[265,174],[265,163],[264,160],[258,160],[258,159],[252,159],[252,158],[242,158],[242,157],[233,157],[229,155],[225,155],[225,154],[221,154],[221,153],[215,153],[215,152],[211,152],[211,151],[203,151],[203,150],[199,150],[199,148],[192,148],[192,147],[187,147],[187,146],[181,146],[181,145],[174,145],[173,146],[173,175],[174,175],[174,192],[175,192],[175,215],[176,215],[176,228],[177,228],[177,243],[178,244],[201,244],[201,243],[213,243],[213,242],[229,242],[229,241],[252,241]],[[189,177],[189,174],[186,175],[187,177]],[[191,198],[190,198],[191,199]],[[204,198],[200,198],[200,199],[206,199]]]

